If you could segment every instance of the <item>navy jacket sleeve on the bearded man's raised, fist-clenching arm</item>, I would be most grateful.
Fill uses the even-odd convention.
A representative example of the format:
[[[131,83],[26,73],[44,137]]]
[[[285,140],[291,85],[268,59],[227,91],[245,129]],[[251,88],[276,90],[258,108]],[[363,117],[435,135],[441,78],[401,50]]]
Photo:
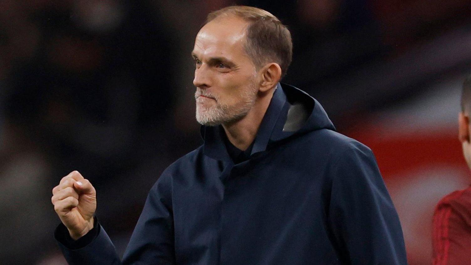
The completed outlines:
[[[69,265],[175,264],[170,176],[162,174],[150,190],[122,262],[100,224],[97,236],[79,249],[60,240],[57,231],[56,239]]]

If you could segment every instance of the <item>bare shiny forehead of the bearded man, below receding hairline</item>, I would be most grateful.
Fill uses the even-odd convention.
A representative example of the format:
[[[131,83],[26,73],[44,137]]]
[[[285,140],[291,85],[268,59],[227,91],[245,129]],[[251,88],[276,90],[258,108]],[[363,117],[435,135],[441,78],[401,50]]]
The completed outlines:
[[[193,52],[199,57],[243,55],[247,25],[238,17],[216,18],[198,32]]]

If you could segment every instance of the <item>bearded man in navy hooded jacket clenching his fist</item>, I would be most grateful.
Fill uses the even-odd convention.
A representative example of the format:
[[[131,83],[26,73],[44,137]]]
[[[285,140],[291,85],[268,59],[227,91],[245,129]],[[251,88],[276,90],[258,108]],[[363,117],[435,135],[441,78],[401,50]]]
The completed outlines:
[[[196,36],[204,144],[150,190],[122,264],[406,264],[398,215],[370,149],[280,84],[292,58],[272,14],[227,7]],[[70,264],[120,264],[78,172],[53,189]]]

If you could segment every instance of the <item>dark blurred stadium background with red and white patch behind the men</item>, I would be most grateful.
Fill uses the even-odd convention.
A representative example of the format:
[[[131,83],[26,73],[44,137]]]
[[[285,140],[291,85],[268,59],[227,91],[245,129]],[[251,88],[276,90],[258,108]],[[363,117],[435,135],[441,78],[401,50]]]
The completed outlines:
[[[284,82],[373,149],[409,264],[430,264],[434,206],[471,180],[457,140],[468,0],[0,0],[1,264],[65,264],[50,197],[72,170],[123,252],[152,184],[202,144],[190,52],[232,4],[289,26]]]

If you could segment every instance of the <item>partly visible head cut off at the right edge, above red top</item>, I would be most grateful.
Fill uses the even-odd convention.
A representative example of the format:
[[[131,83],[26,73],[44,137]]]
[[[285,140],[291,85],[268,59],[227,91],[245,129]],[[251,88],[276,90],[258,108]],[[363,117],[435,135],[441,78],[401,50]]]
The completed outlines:
[[[458,137],[463,145],[463,155],[466,163],[471,168],[471,143],[470,143],[470,113],[471,113],[471,75],[463,83],[461,95],[461,112],[458,116]]]

